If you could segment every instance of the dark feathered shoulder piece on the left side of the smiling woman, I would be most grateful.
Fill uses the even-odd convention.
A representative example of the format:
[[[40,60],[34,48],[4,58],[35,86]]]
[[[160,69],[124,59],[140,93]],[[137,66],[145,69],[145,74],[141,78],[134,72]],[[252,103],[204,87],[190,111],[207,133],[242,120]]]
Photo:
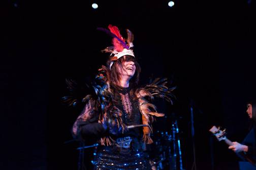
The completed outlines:
[[[62,102],[69,106],[77,106],[78,103],[85,106],[73,125],[73,136],[77,139],[81,139],[80,125],[95,115],[99,116],[96,117],[99,123],[104,119],[106,120],[108,116],[114,116],[111,121],[114,121],[118,128],[122,126],[124,130],[121,112],[111,103],[113,94],[109,88],[109,69],[102,66],[98,71],[99,73],[90,83],[81,84],[72,79],[66,79],[70,94],[63,97]],[[112,115],[109,115],[109,113],[112,113]],[[112,145],[114,140],[107,136],[101,138],[99,142],[102,145]]]

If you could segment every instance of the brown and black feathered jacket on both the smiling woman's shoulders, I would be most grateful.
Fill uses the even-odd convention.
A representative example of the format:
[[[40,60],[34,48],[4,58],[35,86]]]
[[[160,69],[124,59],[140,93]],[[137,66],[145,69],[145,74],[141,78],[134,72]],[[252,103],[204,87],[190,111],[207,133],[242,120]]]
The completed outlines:
[[[73,125],[73,136],[78,140],[84,140],[83,134],[94,133],[90,135],[101,136],[99,142],[101,145],[110,146],[115,144],[115,140],[112,139],[107,133],[104,132],[102,123],[104,120],[109,119],[114,123],[117,128],[125,129],[125,122],[123,122],[123,112],[121,109],[114,105],[115,95],[113,89],[110,88],[109,82],[109,69],[102,66],[99,69],[99,74],[95,77],[95,81],[92,83],[92,88],[95,94],[85,96],[82,101],[86,103],[82,113],[78,116]],[[68,88],[72,89],[72,82],[67,81]],[[151,144],[153,141],[150,138],[152,133],[152,122],[154,116],[164,116],[163,113],[157,113],[155,105],[150,103],[154,97],[164,98],[168,102],[172,103],[172,98],[175,96],[172,91],[175,89],[167,88],[167,79],[156,78],[151,81],[150,84],[138,89],[132,89],[131,93],[134,94],[135,102],[138,104],[139,112],[141,114],[141,122],[146,125],[143,126],[142,141],[144,144]],[[65,97],[65,101],[70,104],[77,102],[77,99],[72,97]],[[90,123],[90,130],[83,129],[83,126]],[[92,125],[93,124],[93,125]]]

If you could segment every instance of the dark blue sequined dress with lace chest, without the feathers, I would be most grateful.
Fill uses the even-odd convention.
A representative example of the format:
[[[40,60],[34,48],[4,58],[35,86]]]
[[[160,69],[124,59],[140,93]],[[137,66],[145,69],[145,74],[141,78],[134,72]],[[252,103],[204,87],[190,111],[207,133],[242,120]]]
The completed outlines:
[[[119,90],[115,95],[117,103],[115,109],[118,109],[121,115],[121,121],[125,125],[142,124],[142,115],[139,110],[138,100],[131,100],[130,90],[127,88]],[[91,101],[89,102],[91,103]],[[95,156],[96,169],[151,169],[145,150],[145,143],[142,141],[143,131],[141,128],[134,128],[124,133],[117,130],[117,134],[110,134],[103,128],[102,123],[98,122],[99,114],[93,111],[92,104],[87,104],[84,111],[76,120],[73,133],[77,138],[82,139],[94,136],[94,138],[103,137],[101,141],[103,146],[98,148]],[[86,122],[86,115],[91,118]],[[97,118],[95,118],[97,117]],[[85,118],[85,119],[84,119]],[[84,120],[85,121],[84,121]],[[86,123],[85,123],[86,122]],[[78,130],[80,128],[80,130]],[[118,128],[118,125],[115,127]],[[79,132],[80,131],[80,132]],[[77,133],[79,132],[79,134]],[[108,138],[104,139],[104,135]],[[105,146],[104,146],[105,145]],[[106,146],[107,145],[107,146]]]

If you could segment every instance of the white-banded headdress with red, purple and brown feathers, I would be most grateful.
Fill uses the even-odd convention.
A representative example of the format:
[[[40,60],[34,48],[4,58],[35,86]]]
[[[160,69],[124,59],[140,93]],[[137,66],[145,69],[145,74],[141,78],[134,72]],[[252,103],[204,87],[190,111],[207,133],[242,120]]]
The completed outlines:
[[[134,35],[129,29],[126,29],[127,39],[124,39],[120,34],[119,29],[116,26],[109,25],[108,28],[109,30],[105,28],[97,28],[97,29],[104,31],[113,37],[112,39],[113,46],[107,47],[106,49],[102,50],[102,52],[111,53],[110,54],[110,57],[111,57],[110,69],[111,69],[111,66],[113,65],[114,61],[118,60],[120,57],[125,55],[130,55],[135,57],[133,53]]]

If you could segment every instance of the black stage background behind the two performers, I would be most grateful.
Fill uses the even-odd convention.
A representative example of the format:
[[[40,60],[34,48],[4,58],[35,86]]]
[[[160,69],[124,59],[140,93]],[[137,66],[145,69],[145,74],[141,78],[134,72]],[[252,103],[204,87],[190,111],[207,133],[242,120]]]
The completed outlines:
[[[194,161],[193,106],[197,169],[238,169],[239,158],[208,130],[221,125],[238,142],[248,132],[246,101],[256,97],[254,0],[177,0],[173,8],[168,1],[97,1],[97,10],[92,2],[1,1],[0,169],[77,169],[71,128],[79,109],[60,99],[65,78],[93,77],[105,64],[100,50],[111,38],[96,28],[108,24],[134,33],[141,84],[159,76],[177,86],[174,106],[158,103],[168,121],[178,120],[184,168]],[[168,131],[166,121],[158,119],[156,130]],[[90,150],[85,155],[92,159]]]

